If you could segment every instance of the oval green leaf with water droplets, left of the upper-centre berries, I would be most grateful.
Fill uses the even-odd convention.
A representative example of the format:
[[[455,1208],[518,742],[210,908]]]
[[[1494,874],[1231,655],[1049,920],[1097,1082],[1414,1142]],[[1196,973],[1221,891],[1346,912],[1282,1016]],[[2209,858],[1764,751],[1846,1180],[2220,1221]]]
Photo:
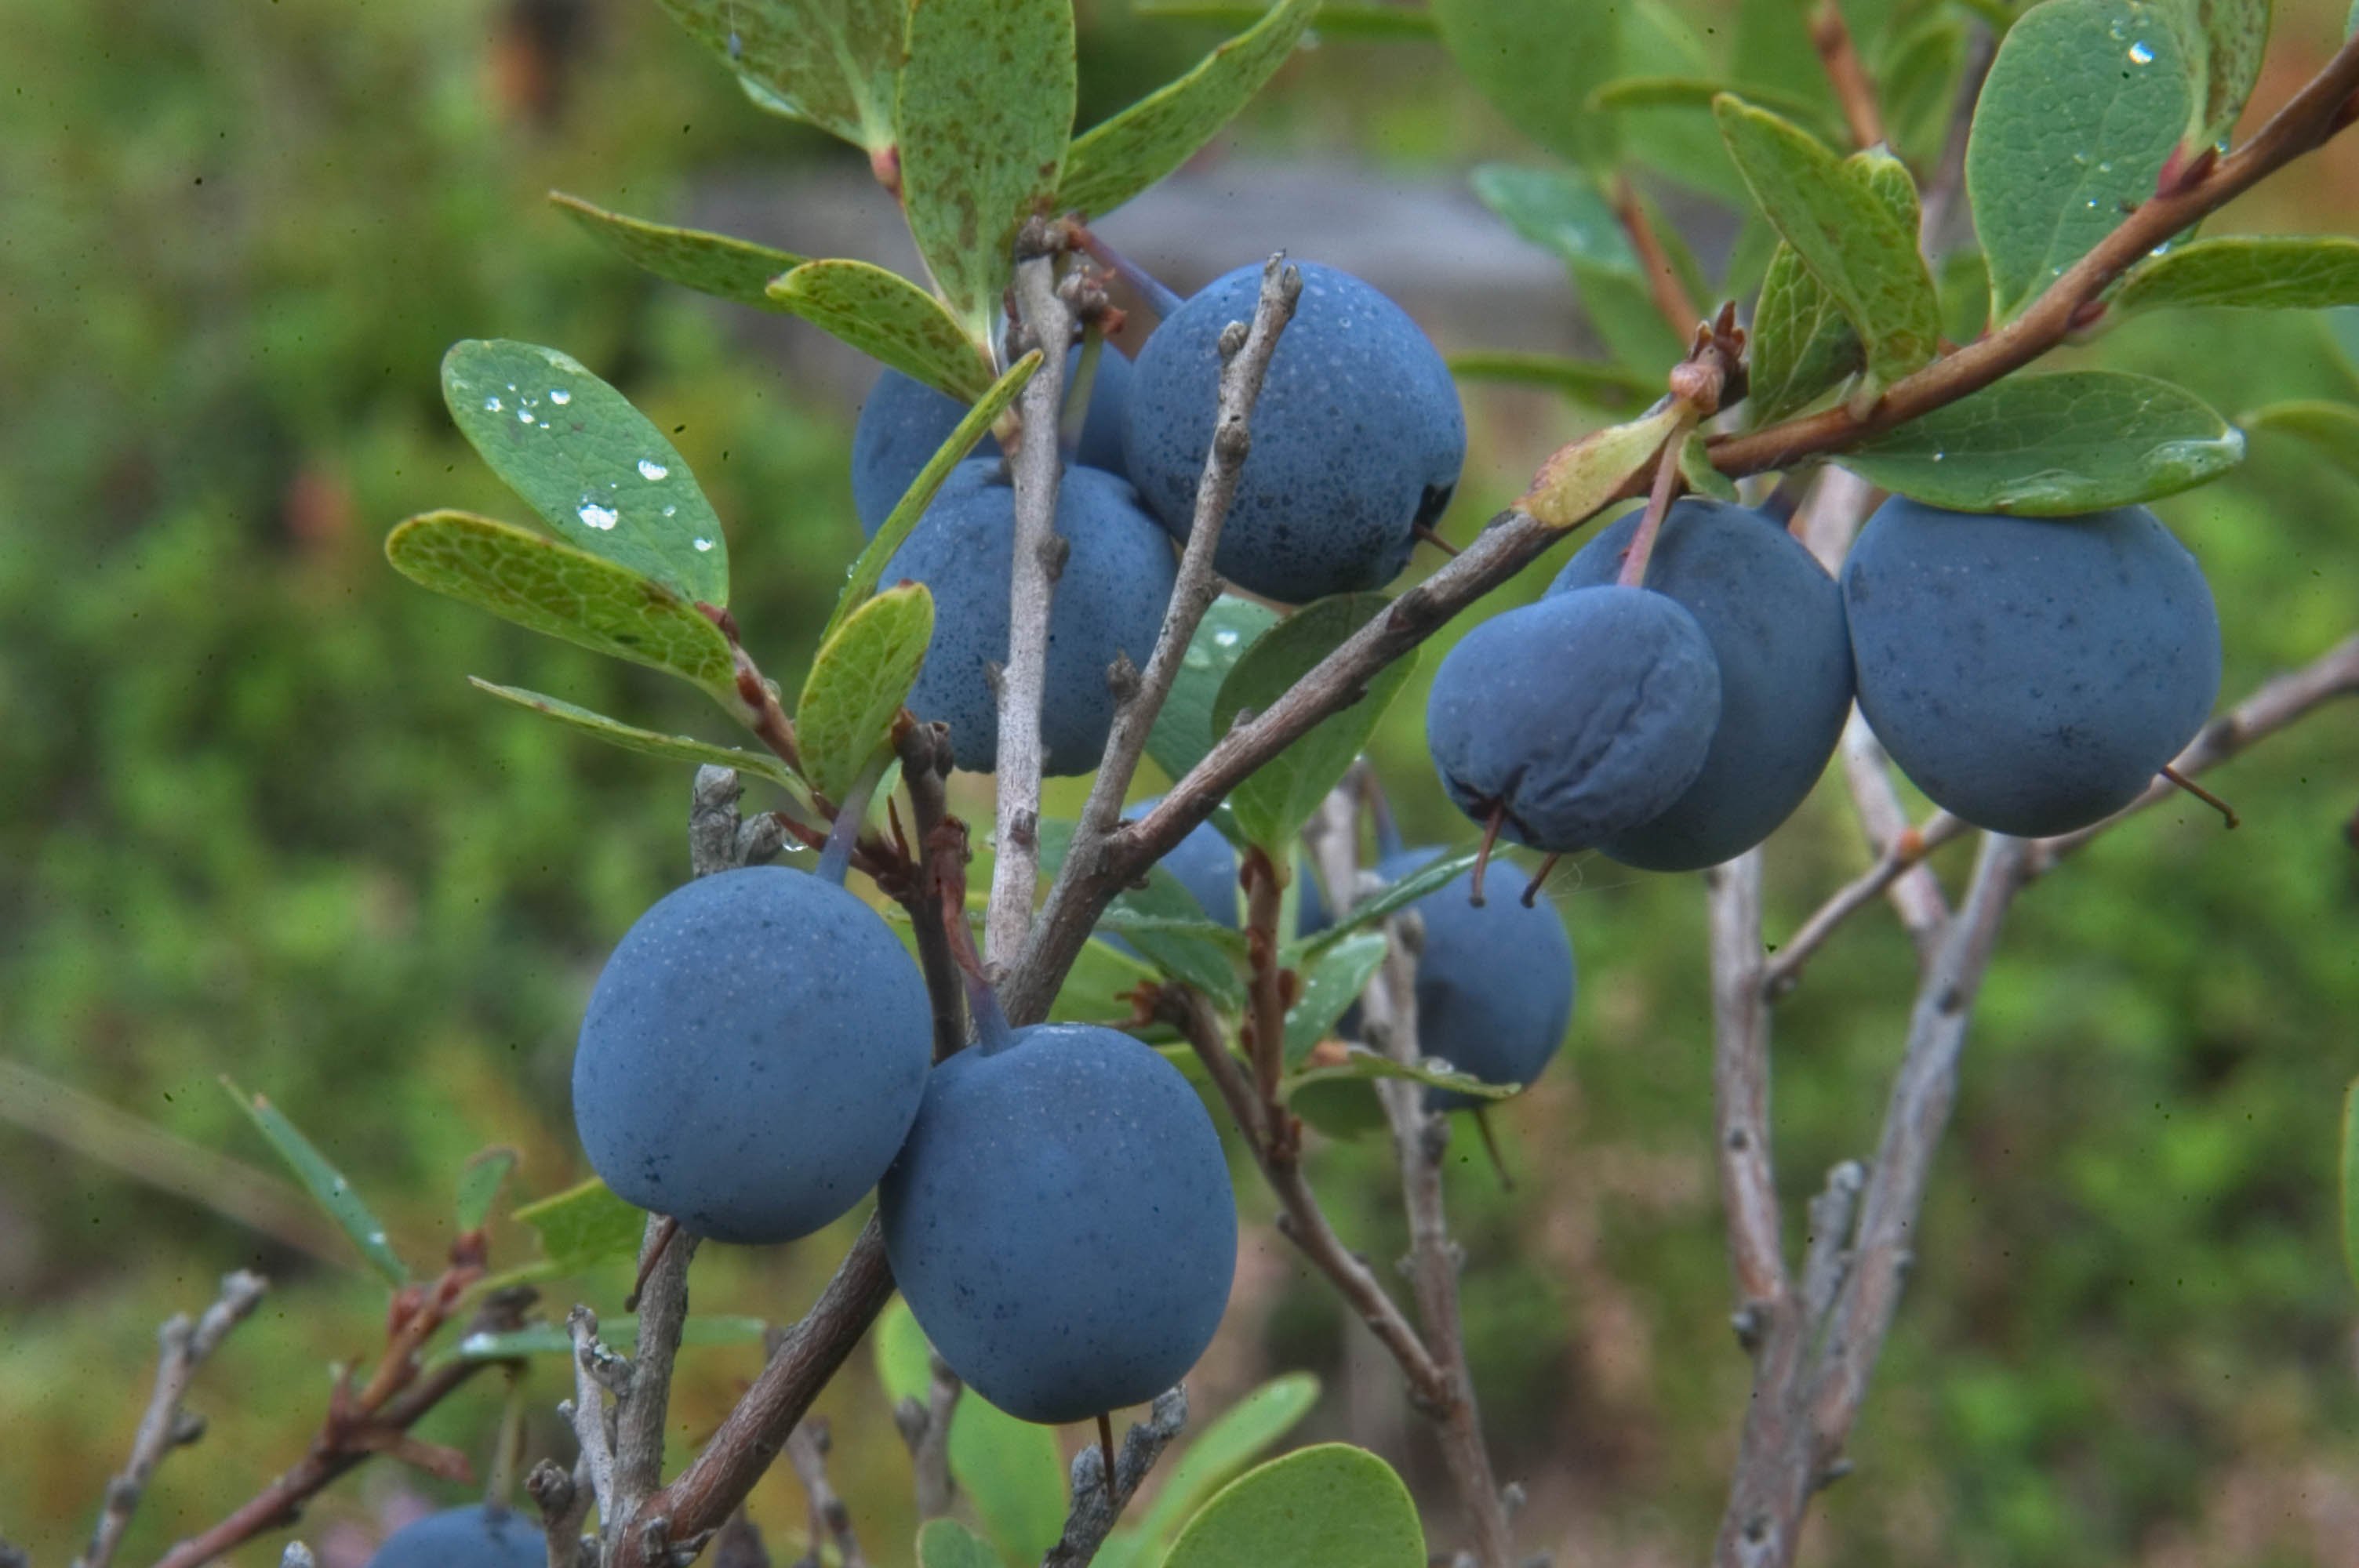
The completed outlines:
[[[569,354],[465,340],[443,356],[460,434],[559,538],[729,604],[729,542],[686,460],[620,391]]]

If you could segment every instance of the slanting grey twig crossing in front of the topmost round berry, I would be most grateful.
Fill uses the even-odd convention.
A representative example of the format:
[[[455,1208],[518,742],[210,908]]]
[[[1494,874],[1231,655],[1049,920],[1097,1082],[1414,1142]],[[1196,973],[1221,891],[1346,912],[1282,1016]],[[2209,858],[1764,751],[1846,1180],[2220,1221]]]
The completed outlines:
[[[1189,523],[1187,547],[1180,552],[1180,575],[1172,582],[1172,601],[1163,613],[1163,632],[1139,672],[1137,691],[1123,696],[1113,710],[1113,731],[1106,736],[1106,752],[1090,783],[1090,799],[1080,809],[1073,828],[1073,844],[1064,868],[1050,889],[1050,905],[1071,898],[1071,887],[1097,865],[1106,835],[1123,816],[1123,797],[1146,752],[1146,736],[1156,714],[1170,698],[1180,665],[1187,660],[1203,613],[1220,597],[1220,578],[1213,573],[1213,552],[1220,547],[1220,531],[1229,521],[1229,505],[1236,500],[1236,479],[1246,472],[1246,455],[1253,450],[1253,406],[1262,396],[1269,361],[1279,351],[1279,337],[1295,318],[1302,299],[1302,274],[1286,266],[1286,252],[1262,264],[1262,292],[1253,304],[1250,323],[1229,323],[1220,337],[1220,413],[1213,420],[1213,443],[1203,455],[1203,474],[1196,481],[1196,512]],[[1243,325],[1243,332],[1238,332]]]

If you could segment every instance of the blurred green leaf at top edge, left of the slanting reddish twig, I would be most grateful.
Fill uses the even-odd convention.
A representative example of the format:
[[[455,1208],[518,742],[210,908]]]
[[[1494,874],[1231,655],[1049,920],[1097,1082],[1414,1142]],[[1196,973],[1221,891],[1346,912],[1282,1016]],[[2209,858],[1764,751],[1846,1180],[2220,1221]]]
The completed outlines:
[[[1614,158],[1590,94],[1621,66],[1621,7],[1564,0],[1432,0],[1441,45],[1510,125],[1585,167]]]

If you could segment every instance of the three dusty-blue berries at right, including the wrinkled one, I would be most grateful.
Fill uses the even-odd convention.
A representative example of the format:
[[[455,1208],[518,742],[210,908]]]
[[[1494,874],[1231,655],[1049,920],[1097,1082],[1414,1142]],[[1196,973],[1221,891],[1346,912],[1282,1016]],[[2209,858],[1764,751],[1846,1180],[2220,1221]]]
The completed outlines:
[[[1696,870],[1802,802],[1857,703],[1901,771],[2012,835],[2130,804],[2220,693],[2194,556],[2144,507],[2015,519],[1892,498],[1840,585],[1774,519],[1682,500],[1642,585],[1628,516],[1441,663],[1451,799],[1548,854]]]

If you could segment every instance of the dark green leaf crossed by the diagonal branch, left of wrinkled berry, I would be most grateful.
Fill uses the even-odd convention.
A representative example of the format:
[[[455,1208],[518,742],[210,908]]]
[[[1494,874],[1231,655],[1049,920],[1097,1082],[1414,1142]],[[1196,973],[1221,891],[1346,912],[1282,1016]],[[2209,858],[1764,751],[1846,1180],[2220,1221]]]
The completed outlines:
[[[1220,684],[1213,733],[1229,733],[1229,724],[1246,707],[1260,712],[1276,703],[1309,674],[1312,665],[1389,606],[1387,594],[1335,594],[1302,606],[1262,632]],[[1359,747],[1368,743],[1413,665],[1415,655],[1399,658],[1368,677],[1368,689],[1356,703],[1321,719],[1229,792],[1229,809],[1236,811],[1236,825],[1250,842],[1272,858],[1286,856],[1288,842],[1359,757]]]

